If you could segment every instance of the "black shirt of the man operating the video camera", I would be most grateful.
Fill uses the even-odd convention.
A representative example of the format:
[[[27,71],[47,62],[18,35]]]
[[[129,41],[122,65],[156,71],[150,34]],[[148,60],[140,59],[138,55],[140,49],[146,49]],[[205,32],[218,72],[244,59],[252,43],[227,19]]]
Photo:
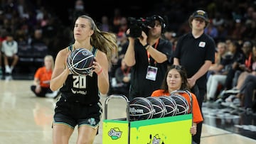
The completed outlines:
[[[155,47],[155,44],[152,45]],[[150,57],[150,65],[152,67],[157,67],[156,80],[146,79],[147,67],[149,66],[148,56],[145,48],[139,43],[139,40],[135,40],[134,51],[136,64],[131,70],[131,87],[129,91],[129,97],[147,97],[151,96],[151,93],[160,89],[161,84],[164,80],[164,75],[166,73],[168,65],[172,64],[172,44],[169,40],[159,39],[159,44],[156,50],[163,52],[168,60],[162,63],[154,63],[154,59]]]

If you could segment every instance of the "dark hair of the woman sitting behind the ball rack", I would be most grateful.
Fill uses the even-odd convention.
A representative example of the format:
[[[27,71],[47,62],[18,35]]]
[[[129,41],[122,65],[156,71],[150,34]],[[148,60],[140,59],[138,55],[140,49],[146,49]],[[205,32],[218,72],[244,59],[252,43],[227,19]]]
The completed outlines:
[[[171,65],[171,67],[169,67],[169,69],[166,71],[166,74],[164,76],[164,81],[161,85],[161,88],[164,89],[164,92],[165,93],[169,92],[166,79],[167,79],[167,76],[168,76],[168,73],[170,72],[170,70],[173,70],[173,69],[176,69],[178,71],[178,73],[181,74],[182,84],[181,84],[181,89],[179,89],[179,90],[189,90],[188,79],[187,79],[188,77],[187,77],[185,68],[182,67],[181,65]]]

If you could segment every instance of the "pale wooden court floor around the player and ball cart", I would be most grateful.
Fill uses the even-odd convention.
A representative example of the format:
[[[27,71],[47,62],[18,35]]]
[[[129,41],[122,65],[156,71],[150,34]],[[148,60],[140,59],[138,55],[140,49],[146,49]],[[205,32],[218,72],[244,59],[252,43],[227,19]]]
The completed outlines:
[[[38,98],[30,91],[32,80],[0,80],[0,144],[49,144],[51,143],[53,109],[56,99]],[[105,96],[102,96],[102,104]],[[125,117],[125,101],[113,99],[108,104],[108,118]],[[102,118],[104,118],[102,116]],[[101,122],[102,124],[102,122]],[[77,129],[70,138],[75,143]],[[255,144],[256,140],[215,126],[203,124],[202,144]],[[102,125],[94,144],[102,144]]]

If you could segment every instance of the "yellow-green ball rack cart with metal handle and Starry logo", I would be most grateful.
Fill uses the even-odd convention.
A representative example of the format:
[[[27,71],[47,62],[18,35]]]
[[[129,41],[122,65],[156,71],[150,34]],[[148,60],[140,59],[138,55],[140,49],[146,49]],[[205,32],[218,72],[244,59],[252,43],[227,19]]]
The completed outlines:
[[[107,119],[107,106],[110,99],[126,101],[126,118]],[[129,100],[127,97],[124,95],[110,95],[105,99],[104,114],[102,127],[103,144],[191,144],[192,141],[189,131],[192,123],[192,113],[130,121]]]

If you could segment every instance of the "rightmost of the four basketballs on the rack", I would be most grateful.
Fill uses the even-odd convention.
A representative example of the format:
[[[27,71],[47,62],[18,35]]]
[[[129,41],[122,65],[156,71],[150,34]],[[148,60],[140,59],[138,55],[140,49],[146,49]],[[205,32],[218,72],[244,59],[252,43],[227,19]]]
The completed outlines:
[[[188,101],[180,94],[171,94],[177,105],[176,115],[188,114]]]

